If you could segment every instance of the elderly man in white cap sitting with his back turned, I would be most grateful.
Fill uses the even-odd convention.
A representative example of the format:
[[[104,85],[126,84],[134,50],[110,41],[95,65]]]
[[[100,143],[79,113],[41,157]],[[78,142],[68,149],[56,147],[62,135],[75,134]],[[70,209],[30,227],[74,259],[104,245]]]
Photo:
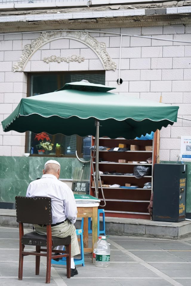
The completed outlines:
[[[77,218],[77,207],[72,190],[58,180],[60,176],[60,164],[55,160],[49,160],[44,165],[42,178],[30,183],[27,189],[27,197],[49,197],[52,205],[51,224],[52,236],[67,237],[71,235],[71,276],[77,275],[74,265],[74,256],[80,253],[76,229],[74,223]],[[46,226],[34,225],[38,234],[46,234]],[[63,249],[63,245],[57,247],[57,253]],[[60,258],[55,259],[58,261]]]

